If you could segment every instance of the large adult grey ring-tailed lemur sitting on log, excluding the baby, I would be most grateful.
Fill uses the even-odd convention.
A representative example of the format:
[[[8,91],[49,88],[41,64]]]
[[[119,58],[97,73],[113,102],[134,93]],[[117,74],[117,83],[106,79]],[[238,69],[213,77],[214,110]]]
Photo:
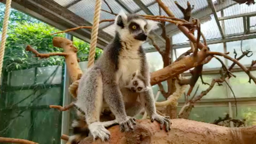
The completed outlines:
[[[76,106],[85,112],[85,120],[93,138],[108,140],[110,133],[105,128],[106,122],[100,122],[103,103],[107,103],[115,115],[121,131],[133,129],[136,113],[125,109],[126,101],[133,99],[125,92],[121,92],[132,74],[138,71],[144,78],[145,87],[150,87],[150,77],[145,53],[141,47],[147,39],[150,30],[157,26],[157,22],[120,12],[115,20],[116,34],[114,40],[104,49],[103,54],[92,68],[84,74],[79,82]],[[158,121],[161,128],[165,124],[170,130],[170,120],[156,114],[152,89],[140,92],[140,104],[146,109],[151,121]],[[136,98],[135,98],[136,100]],[[138,105],[137,105],[138,106]]]

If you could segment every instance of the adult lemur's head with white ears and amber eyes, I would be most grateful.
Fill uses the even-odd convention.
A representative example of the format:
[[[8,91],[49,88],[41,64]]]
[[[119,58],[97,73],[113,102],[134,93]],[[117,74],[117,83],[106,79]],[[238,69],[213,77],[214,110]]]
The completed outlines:
[[[116,17],[116,30],[120,34],[122,40],[138,40],[145,41],[150,30],[157,28],[158,22],[145,20],[139,15],[126,15],[121,11]]]

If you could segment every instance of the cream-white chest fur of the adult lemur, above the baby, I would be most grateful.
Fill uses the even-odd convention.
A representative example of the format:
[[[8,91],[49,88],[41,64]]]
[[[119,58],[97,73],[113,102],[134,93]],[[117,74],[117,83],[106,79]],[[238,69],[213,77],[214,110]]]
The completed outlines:
[[[135,71],[140,72],[140,56],[138,48],[134,45],[125,44],[122,42],[123,48],[119,53],[118,59],[118,72],[117,72],[117,83],[120,88],[128,84],[132,78],[132,74]],[[136,45],[135,45],[136,46]]]

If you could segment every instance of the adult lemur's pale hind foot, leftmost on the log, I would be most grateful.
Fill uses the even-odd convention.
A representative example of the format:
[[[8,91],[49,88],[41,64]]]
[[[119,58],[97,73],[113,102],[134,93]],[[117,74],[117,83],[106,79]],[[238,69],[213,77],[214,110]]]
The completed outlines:
[[[110,132],[104,127],[101,122],[94,122],[88,126],[92,133],[93,140],[100,138],[103,142],[109,140]]]

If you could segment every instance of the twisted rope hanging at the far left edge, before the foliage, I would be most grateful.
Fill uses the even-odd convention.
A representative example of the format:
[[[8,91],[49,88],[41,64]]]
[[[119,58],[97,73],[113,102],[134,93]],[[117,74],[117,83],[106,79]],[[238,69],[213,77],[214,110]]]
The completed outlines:
[[[10,16],[10,10],[11,10],[11,3],[12,3],[12,0],[6,0],[2,40],[1,40],[1,46],[0,46],[0,79],[2,75],[2,68],[3,68],[3,62],[4,62],[4,49],[5,49],[6,34],[7,34],[9,16]]]

